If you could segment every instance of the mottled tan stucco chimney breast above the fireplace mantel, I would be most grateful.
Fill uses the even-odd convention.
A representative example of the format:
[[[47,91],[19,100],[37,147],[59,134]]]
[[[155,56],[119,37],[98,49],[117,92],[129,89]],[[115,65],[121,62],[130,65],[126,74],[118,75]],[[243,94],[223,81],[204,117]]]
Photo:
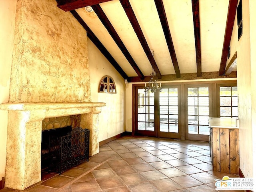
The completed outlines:
[[[9,102],[87,102],[86,31],[55,0],[18,0]]]

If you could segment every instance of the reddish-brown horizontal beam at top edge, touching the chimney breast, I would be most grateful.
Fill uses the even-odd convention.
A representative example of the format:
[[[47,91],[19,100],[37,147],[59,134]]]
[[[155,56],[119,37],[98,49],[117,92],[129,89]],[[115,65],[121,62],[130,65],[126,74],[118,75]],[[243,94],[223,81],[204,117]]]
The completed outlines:
[[[78,8],[92,6],[112,0],[56,0],[57,7],[64,11],[71,11]]]

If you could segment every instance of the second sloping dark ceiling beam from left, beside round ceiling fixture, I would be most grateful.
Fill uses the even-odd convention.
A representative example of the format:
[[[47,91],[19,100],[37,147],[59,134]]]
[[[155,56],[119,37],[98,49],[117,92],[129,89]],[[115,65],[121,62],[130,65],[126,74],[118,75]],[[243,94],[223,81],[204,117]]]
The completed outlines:
[[[110,36],[116,42],[117,46],[120,48],[120,50],[122,51],[122,53],[124,54],[124,56],[126,57],[128,62],[130,63],[132,68],[135,70],[135,72],[138,74],[138,76],[141,79],[144,79],[144,75],[142,74],[140,68],[138,67],[138,65],[136,64],[134,59],[132,58],[131,54],[128,52],[126,46],[122,42],[121,38],[118,36],[116,30],[114,29],[114,27],[112,26],[112,24],[108,20],[106,14],[103,12],[100,5],[93,5],[92,8],[93,8],[94,12],[97,14],[97,16],[100,19],[100,21],[102,22],[102,24],[108,30]]]

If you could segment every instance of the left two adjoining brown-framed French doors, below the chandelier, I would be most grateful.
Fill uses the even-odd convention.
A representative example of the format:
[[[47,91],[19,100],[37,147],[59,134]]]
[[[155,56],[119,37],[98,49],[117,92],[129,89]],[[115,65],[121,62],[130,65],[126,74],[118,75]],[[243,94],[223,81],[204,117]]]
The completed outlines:
[[[154,94],[136,88],[135,134],[165,138],[181,138],[180,86],[163,86]]]

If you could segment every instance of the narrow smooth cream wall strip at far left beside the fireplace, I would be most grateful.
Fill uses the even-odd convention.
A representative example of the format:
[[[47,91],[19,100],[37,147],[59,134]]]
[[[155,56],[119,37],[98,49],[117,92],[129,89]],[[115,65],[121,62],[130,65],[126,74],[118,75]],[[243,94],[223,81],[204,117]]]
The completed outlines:
[[[8,102],[16,0],[0,0],[0,104]],[[0,110],[0,180],[5,176],[8,112]]]

